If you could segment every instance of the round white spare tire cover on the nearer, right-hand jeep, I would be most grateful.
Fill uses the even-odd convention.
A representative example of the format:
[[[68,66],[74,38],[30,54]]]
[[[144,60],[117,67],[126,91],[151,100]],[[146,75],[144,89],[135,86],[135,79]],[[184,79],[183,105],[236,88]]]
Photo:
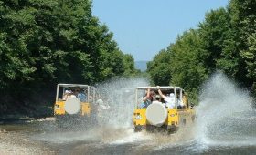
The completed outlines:
[[[145,115],[147,121],[154,126],[160,127],[167,118],[167,109],[162,103],[152,103],[146,109]]]

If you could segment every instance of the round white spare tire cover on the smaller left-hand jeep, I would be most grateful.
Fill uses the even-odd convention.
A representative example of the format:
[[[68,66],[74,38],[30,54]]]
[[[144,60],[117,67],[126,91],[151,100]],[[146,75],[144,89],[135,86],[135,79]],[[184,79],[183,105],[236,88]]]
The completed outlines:
[[[76,97],[67,98],[64,109],[68,114],[77,114],[80,112],[80,100]]]

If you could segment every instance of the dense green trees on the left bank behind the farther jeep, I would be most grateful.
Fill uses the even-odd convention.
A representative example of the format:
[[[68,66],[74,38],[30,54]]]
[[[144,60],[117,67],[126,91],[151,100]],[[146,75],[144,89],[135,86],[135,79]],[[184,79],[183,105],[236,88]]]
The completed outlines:
[[[91,7],[91,0],[0,0],[0,115],[53,105],[57,83],[138,72]]]

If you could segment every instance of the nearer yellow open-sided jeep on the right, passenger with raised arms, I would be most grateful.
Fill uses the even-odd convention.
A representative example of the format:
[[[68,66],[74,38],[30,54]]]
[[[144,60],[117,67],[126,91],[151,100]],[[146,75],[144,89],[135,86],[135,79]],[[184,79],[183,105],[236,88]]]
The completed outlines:
[[[150,91],[152,100],[145,101],[147,91]],[[138,87],[135,93],[135,131],[164,129],[171,133],[195,119],[195,110],[188,101],[187,93],[180,87]],[[156,102],[155,97],[158,97]]]

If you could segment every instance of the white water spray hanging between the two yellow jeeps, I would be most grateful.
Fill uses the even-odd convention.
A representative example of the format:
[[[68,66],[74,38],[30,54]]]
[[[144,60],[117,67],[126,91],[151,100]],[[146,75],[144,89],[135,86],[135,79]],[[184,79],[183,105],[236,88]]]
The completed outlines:
[[[98,85],[97,90],[103,102],[110,106],[110,109],[103,109],[99,123],[112,127],[131,128],[135,88],[148,85],[149,82],[145,78],[118,78]]]

